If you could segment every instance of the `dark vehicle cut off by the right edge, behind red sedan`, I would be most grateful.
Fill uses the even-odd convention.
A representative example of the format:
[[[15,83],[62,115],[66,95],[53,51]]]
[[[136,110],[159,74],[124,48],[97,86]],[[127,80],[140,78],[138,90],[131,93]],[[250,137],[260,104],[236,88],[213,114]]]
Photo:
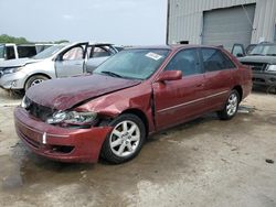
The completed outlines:
[[[243,45],[235,45],[233,51],[242,51]],[[276,86],[276,44],[262,43],[247,55],[238,53],[238,61],[253,69],[253,84]]]

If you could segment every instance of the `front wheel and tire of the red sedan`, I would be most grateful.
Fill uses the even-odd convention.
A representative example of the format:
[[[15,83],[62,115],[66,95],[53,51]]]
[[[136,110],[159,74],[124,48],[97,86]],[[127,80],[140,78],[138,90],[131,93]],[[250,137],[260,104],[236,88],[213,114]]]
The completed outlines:
[[[146,128],[141,119],[135,115],[125,113],[108,126],[114,129],[105,139],[102,157],[109,163],[120,164],[137,156],[146,139]]]

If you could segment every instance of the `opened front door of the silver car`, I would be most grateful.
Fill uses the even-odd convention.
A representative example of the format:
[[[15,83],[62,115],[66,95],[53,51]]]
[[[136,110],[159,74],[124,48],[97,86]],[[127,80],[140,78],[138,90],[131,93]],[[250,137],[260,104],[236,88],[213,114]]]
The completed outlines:
[[[84,73],[88,43],[76,44],[62,52],[55,61],[56,77],[68,77]]]

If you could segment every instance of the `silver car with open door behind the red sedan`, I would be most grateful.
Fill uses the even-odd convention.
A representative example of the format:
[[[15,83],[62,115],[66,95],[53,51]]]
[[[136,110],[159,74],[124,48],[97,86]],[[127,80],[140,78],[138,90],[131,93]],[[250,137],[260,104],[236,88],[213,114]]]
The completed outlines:
[[[0,63],[0,86],[26,90],[46,79],[92,73],[100,63],[117,53],[107,43],[63,43],[32,58]]]

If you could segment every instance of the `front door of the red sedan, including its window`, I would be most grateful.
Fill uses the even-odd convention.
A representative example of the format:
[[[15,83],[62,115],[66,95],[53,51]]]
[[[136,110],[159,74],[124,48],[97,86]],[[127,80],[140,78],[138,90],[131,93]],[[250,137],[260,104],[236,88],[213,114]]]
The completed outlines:
[[[181,70],[183,77],[180,80],[152,85],[158,130],[197,117],[205,108],[205,80],[198,48],[188,48],[176,54],[166,70]]]

